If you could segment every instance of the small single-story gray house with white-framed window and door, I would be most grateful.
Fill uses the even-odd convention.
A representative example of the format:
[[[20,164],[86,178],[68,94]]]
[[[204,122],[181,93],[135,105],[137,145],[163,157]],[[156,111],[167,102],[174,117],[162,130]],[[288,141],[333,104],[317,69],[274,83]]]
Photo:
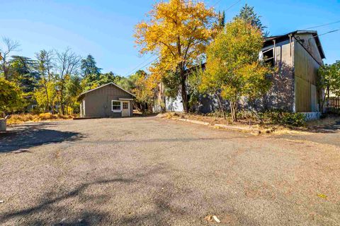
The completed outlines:
[[[79,95],[80,117],[132,117],[135,95],[114,83]]]

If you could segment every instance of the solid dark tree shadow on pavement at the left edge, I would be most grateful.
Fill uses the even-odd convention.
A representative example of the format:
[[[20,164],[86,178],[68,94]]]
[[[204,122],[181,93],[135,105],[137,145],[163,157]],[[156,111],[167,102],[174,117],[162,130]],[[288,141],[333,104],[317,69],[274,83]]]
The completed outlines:
[[[81,133],[50,129],[55,125],[55,123],[23,124],[0,133],[0,153],[29,152],[24,148],[63,141],[77,141],[84,137]]]

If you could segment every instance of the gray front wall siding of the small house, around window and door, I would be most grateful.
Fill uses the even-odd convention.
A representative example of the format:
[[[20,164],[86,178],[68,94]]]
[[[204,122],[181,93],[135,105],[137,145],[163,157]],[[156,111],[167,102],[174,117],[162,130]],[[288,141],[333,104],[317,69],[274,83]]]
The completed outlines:
[[[125,93],[115,85],[106,85],[103,88],[93,90],[86,93],[85,100],[85,115],[83,117],[121,117],[121,112],[112,111],[112,100],[119,98],[132,99],[132,95]],[[130,101],[130,115],[132,116],[133,106]]]

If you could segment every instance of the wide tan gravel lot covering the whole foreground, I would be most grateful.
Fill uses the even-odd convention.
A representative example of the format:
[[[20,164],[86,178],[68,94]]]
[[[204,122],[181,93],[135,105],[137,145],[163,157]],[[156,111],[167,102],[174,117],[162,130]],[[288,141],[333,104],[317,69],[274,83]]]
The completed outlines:
[[[23,124],[0,133],[0,224],[339,225],[339,141],[156,117]]]

